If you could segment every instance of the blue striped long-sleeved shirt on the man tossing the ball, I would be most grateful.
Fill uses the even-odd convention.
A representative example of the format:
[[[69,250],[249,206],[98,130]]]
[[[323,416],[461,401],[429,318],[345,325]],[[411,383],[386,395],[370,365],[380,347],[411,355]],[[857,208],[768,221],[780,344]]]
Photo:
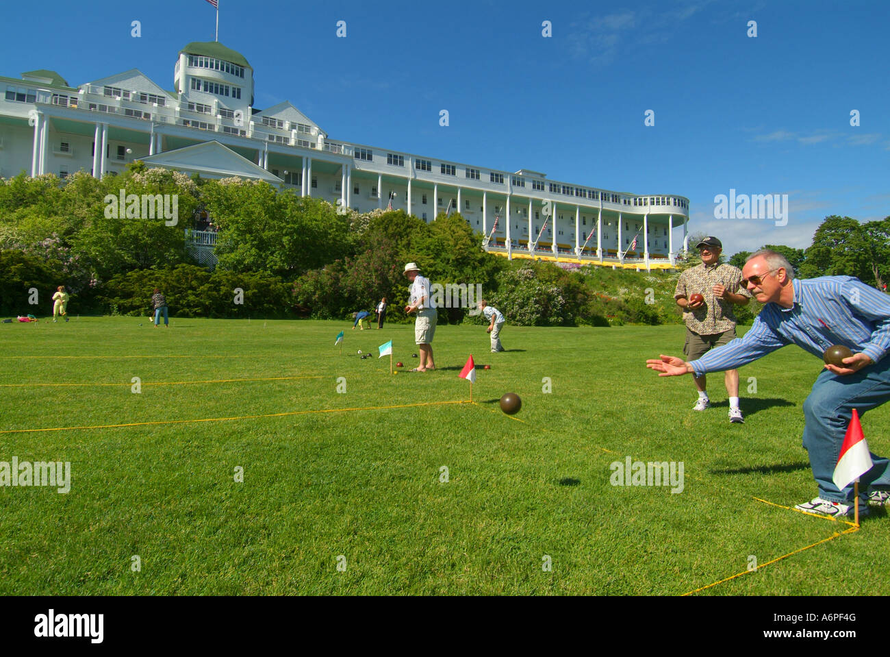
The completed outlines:
[[[890,352],[890,296],[852,276],[793,280],[794,305],[769,303],[744,337],[692,361],[695,376],[737,369],[785,345],[820,359],[832,345],[845,345],[880,361]]]

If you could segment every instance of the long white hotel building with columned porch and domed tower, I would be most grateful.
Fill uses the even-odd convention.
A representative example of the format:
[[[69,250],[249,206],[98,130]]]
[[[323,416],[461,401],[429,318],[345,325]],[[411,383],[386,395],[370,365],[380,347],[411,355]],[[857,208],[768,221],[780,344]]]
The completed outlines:
[[[529,169],[498,171],[336,141],[289,102],[257,110],[253,69],[217,42],[182,49],[173,91],[138,69],[78,87],[54,71],[34,70],[0,77],[0,85],[3,177],[117,174],[141,159],[210,178],[262,179],[360,212],[386,207],[391,197],[393,208],[427,222],[457,209],[491,234],[490,250],[514,257],[650,268],[674,264],[676,252],[688,247],[689,202],[682,196],[603,190]],[[553,220],[538,239],[547,207]],[[676,244],[681,224],[684,239]],[[207,246],[214,238],[190,232]]]

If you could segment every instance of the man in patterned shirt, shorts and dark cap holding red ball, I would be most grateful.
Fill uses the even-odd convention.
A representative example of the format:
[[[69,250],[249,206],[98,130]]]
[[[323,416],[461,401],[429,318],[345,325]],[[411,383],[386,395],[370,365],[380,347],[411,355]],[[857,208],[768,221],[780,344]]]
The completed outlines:
[[[701,254],[701,264],[680,274],[674,298],[684,309],[686,344],[683,353],[690,361],[696,361],[710,349],[726,345],[735,339],[735,315],[732,304],[744,305],[751,293],[740,285],[741,272],[732,264],[720,264],[723,249],[719,239],[707,237],[696,246]],[[700,294],[704,301],[690,303],[689,297]],[[708,399],[706,377],[695,377],[699,401],[693,410],[705,410],[711,405]],[[724,374],[726,393],[729,395],[730,422],[744,422],[739,407],[739,370],[727,369]]]

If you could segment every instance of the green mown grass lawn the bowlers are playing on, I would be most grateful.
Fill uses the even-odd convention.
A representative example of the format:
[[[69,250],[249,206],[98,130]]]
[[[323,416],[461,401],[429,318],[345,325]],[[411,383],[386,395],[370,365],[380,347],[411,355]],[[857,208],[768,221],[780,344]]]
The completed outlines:
[[[680,353],[679,326],[508,325],[498,354],[481,327],[441,326],[439,370],[392,376],[376,347],[392,338],[414,367],[412,326],[171,322],[0,325],[0,430],[136,425],[0,434],[0,461],[72,472],[68,494],[0,488],[0,594],[677,595],[848,529],[754,499],[815,496],[801,405],[820,362],[796,347],[741,370],[738,426],[722,374],[716,407],[694,413],[690,377],[645,369]],[[433,404],[469,400],[469,353],[475,403]],[[216,382],[247,378],[269,380]],[[506,392],[522,397],[513,418]],[[306,412],[321,410],[337,412]],[[878,454],[888,411],[863,418]],[[201,418],[235,419],[174,423]],[[628,456],[682,461],[684,490],[612,486]],[[888,522],[873,513],[701,595],[886,594]]]

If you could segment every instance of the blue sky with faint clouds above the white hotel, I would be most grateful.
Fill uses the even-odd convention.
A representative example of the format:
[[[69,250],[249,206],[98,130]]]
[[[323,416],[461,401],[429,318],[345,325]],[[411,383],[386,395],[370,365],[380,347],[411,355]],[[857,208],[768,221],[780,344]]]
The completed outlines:
[[[220,42],[254,67],[255,107],[291,101],[331,139],[680,194],[690,231],[726,254],[807,247],[826,215],[890,215],[883,0],[220,3]],[[137,68],[171,89],[177,53],[212,41],[214,19],[205,0],[12,4],[0,72],[53,69],[76,86]],[[788,194],[787,225],[716,219],[731,189]]]

